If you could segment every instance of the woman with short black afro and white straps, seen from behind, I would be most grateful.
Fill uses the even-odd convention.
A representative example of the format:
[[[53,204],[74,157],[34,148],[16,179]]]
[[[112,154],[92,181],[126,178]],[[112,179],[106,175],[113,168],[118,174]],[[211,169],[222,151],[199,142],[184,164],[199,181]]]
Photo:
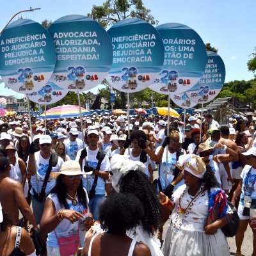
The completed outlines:
[[[136,196],[129,193],[111,195],[99,209],[101,227],[106,232],[87,239],[81,256],[150,256],[146,244],[126,235],[126,230],[139,225],[143,214],[143,205]]]

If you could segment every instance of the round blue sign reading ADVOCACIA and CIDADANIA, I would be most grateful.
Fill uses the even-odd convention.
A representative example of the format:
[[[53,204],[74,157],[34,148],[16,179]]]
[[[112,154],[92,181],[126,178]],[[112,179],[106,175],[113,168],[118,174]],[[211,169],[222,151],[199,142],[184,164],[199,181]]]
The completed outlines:
[[[106,78],[113,60],[108,33],[83,15],[67,15],[48,28],[56,47],[51,81],[68,91],[86,91]]]

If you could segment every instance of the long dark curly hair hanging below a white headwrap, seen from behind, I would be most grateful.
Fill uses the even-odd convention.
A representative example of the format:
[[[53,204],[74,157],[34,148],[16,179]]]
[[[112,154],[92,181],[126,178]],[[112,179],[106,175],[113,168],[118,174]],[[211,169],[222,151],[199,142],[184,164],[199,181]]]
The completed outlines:
[[[163,212],[156,196],[156,189],[147,175],[138,170],[127,173],[120,182],[120,193],[133,193],[140,199],[145,211],[141,220],[142,227],[149,235],[153,235],[159,228]]]

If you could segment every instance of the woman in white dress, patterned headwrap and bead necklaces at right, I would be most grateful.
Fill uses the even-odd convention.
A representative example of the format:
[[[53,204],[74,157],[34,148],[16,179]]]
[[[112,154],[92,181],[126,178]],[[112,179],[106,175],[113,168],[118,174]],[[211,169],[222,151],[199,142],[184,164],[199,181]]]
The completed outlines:
[[[227,239],[221,231],[227,216],[232,215],[225,191],[199,156],[180,156],[177,166],[184,172],[184,186],[173,193],[172,201],[163,193],[159,195],[161,204],[172,211],[172,224],[162,248],[164,256],[229,256]]]

